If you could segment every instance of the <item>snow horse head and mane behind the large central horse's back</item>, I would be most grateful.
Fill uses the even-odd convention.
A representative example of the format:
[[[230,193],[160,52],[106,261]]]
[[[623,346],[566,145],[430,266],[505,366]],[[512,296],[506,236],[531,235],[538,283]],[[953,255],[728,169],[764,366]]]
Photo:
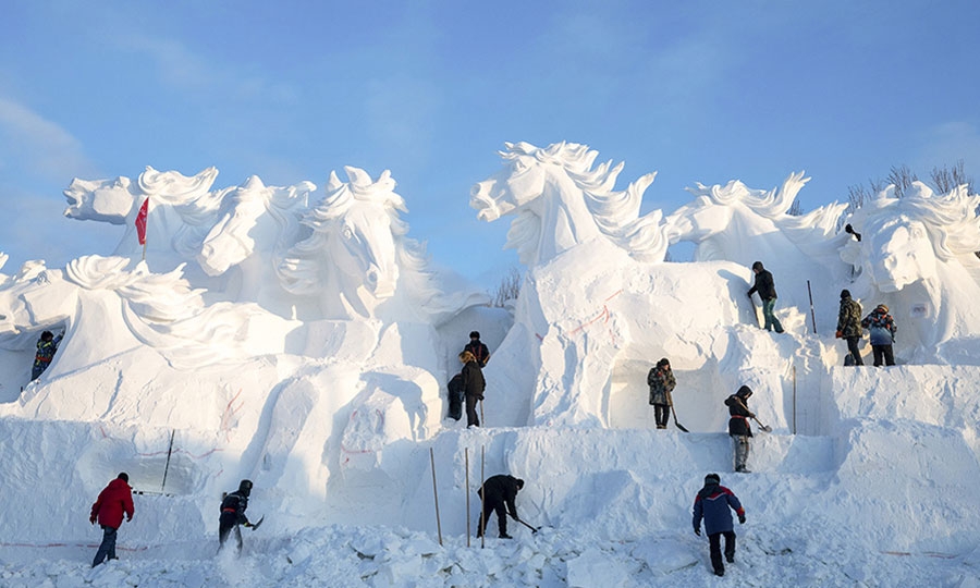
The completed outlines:
[[[695,261],[727,260],[750,267],[762,261],[775,277],[780,295],[777,310],[809,305],[807,284],[789,283],[785,277],[804,274],[810,281],[817,308],[818,332],[833,331],[841,284],[849,279],[838,249],[849,238],[835,236],[837,219],[846,204],[832,204],[803,216],[787,213],[800,188],[809,181],[792,173],[780,189],[751,189],[739,181],[726,185],[687,188],[694,201],[665,219],[672,244],[695,243]],[[781,277],[783,279],[781,279]],[[836,289],[836,292],[835,292]],[[820,303],[823,304],[820,304]]]

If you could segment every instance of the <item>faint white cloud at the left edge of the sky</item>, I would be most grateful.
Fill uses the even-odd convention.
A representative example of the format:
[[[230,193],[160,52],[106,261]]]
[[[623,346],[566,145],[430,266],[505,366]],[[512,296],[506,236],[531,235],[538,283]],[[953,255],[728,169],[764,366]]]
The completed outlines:
[[[16,173],[26,180],[63,184],[65,177],[90,174],[94,170],[82,144],[71,133],[26,106],[0,96],[0,173],[8,179]]]

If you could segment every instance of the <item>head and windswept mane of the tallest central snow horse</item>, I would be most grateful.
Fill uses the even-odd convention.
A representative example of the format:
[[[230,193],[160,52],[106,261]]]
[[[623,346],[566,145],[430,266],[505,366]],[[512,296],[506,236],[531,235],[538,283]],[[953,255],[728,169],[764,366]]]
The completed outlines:
[[[644,192],[657,173],[648,173],[615,192],[623,170],[612,161],[592,169],[598,151],[586,145],[556,143],[538,148],[506,143],[504,169],[476,184],[469,205],[485,221],[515,215],[506,247],[528,266],[547,262],[579,243],[607,238],[636,259],[662,261],[666,241],[661,212],[639,218]]]

